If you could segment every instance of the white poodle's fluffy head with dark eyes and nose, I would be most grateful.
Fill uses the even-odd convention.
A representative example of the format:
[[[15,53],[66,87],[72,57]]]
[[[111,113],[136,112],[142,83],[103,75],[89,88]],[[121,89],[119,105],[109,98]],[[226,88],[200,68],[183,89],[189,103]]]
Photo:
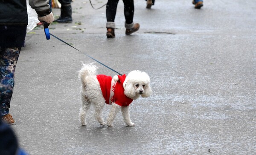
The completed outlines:
[[[130,72],[123,83],[125,95],[128,98],[136,100],[140,96],[147,98],[151,95],[152,90],[149,85],[150,78],[145,72],[132,71]]]

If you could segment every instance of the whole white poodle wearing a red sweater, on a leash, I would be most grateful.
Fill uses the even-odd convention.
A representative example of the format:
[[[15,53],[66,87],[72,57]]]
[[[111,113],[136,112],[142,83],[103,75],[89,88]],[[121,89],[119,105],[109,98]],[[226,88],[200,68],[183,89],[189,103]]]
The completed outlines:
[[[79,112],[81,125],[87,126],[86,114],[92,103],[95,107],[96,120],[101,125],[106,125],[102,118],[102,109],[107,103],[112,105],[107,119],[109,127],[113,127],[113,120],[120,110],[127,126],[134,126],[130,119],[129,105],[140,96],[147,98],[151,95],[150,78],[145,72],[132,71],[127,77],[115,75],[112,79],[111,76],[96,75],[96,69],[97,67],[91,63],[84,64],[79,71],[82,82],[82,106]]]

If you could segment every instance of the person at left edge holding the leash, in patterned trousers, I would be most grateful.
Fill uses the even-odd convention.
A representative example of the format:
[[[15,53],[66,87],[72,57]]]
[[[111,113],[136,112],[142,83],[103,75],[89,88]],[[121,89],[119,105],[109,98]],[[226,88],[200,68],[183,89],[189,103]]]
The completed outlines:
[[[29,0],[44,25],[54,21],[48,0]],[[24,47],[28,14],[26,0],[0,0],[0,116],[9,125],[15,121],[9,114],[14,88],[15,67]]]

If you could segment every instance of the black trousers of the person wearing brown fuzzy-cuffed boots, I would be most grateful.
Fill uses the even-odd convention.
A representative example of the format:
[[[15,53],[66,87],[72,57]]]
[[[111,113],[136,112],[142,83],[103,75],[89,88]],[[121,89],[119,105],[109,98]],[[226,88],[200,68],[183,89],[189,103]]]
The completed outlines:
[[[116,8],[119,0],[108,0],[106,6],[106,17],[108,22],[115,22],[116,17]],[[134,17],[134,1],[133,0],[123,0],[125,9],[125,23],[131,24],[133,23]]]

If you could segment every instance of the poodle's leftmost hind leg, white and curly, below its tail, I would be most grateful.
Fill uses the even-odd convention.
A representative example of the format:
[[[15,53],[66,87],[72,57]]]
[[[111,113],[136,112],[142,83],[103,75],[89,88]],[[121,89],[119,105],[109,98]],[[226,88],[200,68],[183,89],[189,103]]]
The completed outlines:
[[[88,110],[90,109],[90,105],[91,105],[91,103],[88,102],[87,98],[82,97],[82,107],[80,108],[80,112],[79,112],[82,126],[87,126],[86,115],[87,115]]]

